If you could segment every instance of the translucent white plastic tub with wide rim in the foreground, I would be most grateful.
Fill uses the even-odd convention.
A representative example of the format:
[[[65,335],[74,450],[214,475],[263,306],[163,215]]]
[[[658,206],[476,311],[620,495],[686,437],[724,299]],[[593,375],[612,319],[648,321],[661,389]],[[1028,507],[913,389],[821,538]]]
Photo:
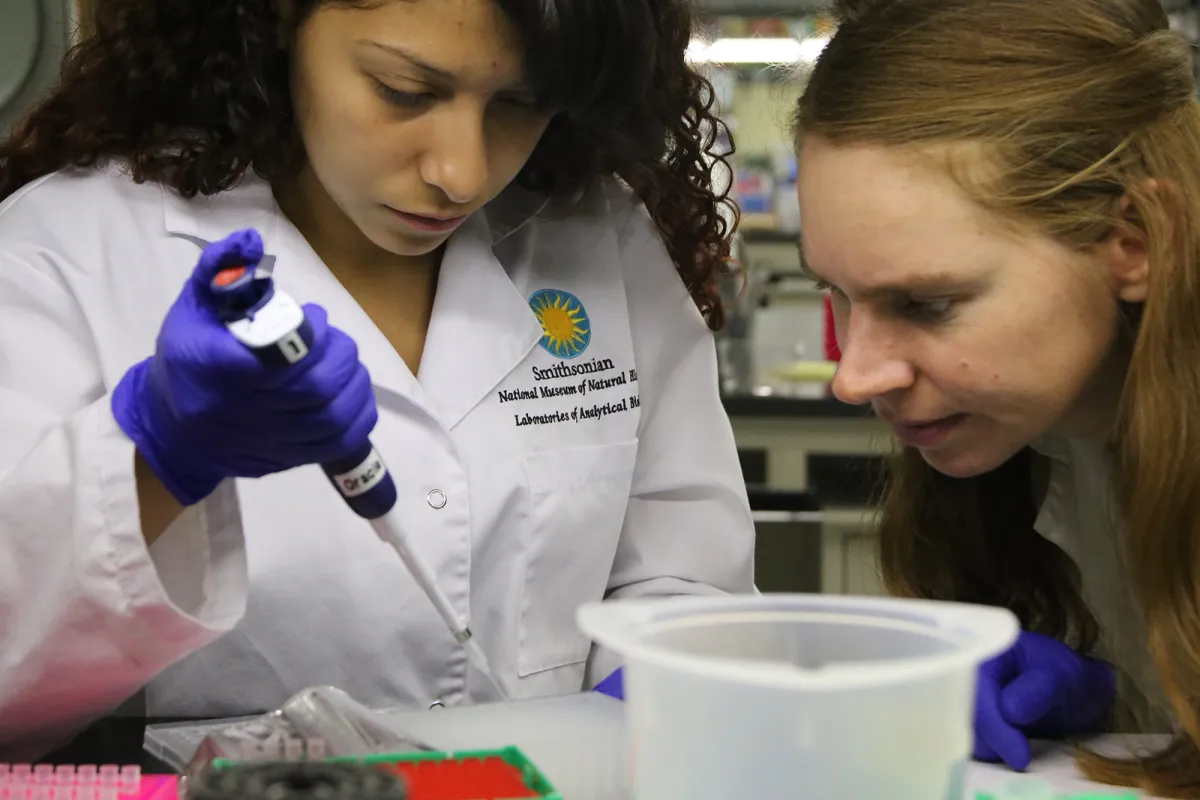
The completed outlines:
[[[626,657],[631,788],[655,800],[958,798],[1008,610],[762,595],[593,603]]]

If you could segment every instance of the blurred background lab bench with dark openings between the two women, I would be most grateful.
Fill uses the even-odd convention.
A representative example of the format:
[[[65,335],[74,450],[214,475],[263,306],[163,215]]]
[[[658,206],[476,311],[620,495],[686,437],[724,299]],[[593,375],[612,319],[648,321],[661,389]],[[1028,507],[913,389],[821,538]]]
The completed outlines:
[[[760,589],[884,594],[871,531],[880,470],[893,449],[888,426],[833,397],[724,402],[750,488]],[[806,498],[803,513],[786,507],[788,497],[792,505]]]

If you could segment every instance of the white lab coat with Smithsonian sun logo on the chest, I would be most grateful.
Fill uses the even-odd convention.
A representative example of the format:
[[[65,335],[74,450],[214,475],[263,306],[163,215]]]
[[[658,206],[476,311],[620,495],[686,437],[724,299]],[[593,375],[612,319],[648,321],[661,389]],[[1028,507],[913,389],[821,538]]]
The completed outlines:
[[[0,741],[28,757],[143,686],[152,716],[254,712],[317,684],[490,699],[317,467],[227,481],[148,552],[109,392],[202,247],[246,227],[278,285],[358,342],[403,523],[511,694],[618,666],[577,630],[583,602],[752,591],[713,338],[649,216],[617,182],[569,215],[532,200],[510,190],[450,240],[416,377],[259,179],[188,201],[110,168],[0,205]],[[582,302],[576,357],[540,345],[540,289]]]

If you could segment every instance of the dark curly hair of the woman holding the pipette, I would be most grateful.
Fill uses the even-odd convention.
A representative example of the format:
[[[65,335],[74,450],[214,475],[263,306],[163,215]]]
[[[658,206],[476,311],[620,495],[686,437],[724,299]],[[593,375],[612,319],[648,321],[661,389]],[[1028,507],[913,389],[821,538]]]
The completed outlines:
[[[109,160],[188,198],[222,192],[247,169],[286,180],[305,160],[289,89],[298,29],[322,5],[379,1],[100,0],[59,85],[0,143],[0,200]],[[521,32],[539,101],[556,110],[517,181],[551,198],[625,181],[720,329],[738,210],[714,191],[732,151],[718,149],[726,131],[712,84],[684,59],[688,0],[494,1]]]

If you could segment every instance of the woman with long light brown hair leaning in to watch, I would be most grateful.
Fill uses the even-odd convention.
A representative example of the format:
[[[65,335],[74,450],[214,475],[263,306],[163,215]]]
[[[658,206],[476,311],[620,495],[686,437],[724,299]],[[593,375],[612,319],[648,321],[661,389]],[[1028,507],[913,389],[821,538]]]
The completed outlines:
[[[1200,798],[1200,104],[1157,0],[842,1],[799,100],[834,392],[901,443],[896,595],[1006,606],[976,754],[1174,730],[1092,777]]]

